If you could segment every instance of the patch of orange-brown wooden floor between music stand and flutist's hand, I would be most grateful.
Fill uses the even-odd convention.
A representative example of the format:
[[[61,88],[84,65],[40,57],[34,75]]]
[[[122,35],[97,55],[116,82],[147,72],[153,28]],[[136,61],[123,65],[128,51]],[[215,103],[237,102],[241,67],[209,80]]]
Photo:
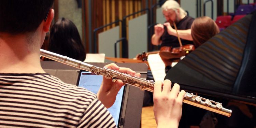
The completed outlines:
[[[141,128],[156,128],[153,106],[146,106],[142,108]]]

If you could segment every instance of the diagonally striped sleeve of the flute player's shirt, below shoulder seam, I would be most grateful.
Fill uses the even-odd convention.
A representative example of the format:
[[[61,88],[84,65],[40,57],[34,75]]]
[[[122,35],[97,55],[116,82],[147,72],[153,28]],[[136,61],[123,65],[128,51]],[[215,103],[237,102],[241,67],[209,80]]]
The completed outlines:
[[[116,128],[114,118],[96,98],[89,104],[77,128]]]

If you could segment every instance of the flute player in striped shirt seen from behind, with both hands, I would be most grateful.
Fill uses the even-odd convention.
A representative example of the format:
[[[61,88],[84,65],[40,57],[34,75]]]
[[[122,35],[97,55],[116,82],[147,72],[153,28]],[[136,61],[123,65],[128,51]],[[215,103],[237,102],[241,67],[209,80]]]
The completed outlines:
[[[54,17],[53,0],[0,0],[0,127],[116,127],[106,108],[124,85],[103,77],[94,94],[62,82],[42,69],[40,47]],[[111,63],[109,69],[140,76]],[[162,90],[163,86],[163,90]],[[158,127],[177,127],[185,91],[171,82],[155,83]]]

